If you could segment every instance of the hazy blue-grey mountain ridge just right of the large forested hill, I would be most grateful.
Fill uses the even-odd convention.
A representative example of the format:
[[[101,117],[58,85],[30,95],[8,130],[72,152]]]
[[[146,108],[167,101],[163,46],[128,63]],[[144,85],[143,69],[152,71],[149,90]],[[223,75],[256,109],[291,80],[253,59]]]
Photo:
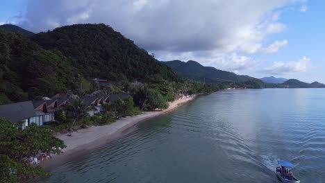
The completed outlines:
[[[222,71],[214,67],[204,67],[193,60],[189,60],[188,62],[172,60],[163,63],[172,67],[181,78],[190,78],[200,82],[245,82],[254,79],[250,76],[239,76],[233,72]]]

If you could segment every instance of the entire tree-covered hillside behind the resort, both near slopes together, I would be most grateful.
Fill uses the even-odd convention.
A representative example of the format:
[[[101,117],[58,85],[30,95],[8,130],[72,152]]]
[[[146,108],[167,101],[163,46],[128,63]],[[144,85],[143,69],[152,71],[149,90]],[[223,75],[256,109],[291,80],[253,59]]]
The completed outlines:
[[[104,24],[65,26],[33,37],[0,30],[0,63],[0,104],[64,93],[82,78],[144,81],[158,74],[178,80],[170,67]]]

